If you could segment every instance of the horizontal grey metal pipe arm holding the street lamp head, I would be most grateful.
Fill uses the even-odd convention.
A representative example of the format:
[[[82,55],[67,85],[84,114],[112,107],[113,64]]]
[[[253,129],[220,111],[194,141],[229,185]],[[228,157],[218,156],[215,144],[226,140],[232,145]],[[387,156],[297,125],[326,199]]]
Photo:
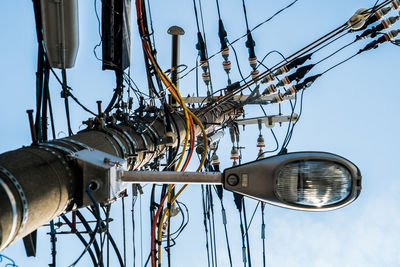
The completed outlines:
[[[120,177],[127,183],[159,184],[208,184],[221,185],[222,174],[219,172],[129,172],[121,171]]]

